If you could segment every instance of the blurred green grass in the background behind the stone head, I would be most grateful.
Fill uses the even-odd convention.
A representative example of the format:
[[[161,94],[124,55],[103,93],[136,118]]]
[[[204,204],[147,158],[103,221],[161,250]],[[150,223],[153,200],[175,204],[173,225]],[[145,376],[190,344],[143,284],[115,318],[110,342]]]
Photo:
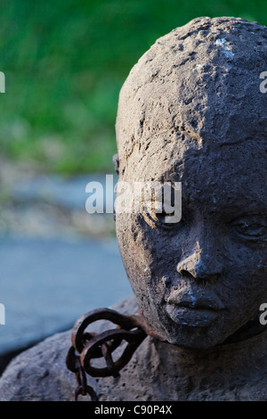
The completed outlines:
[[[117,98],[158,37],[198,16],[267,23],[265,0],[0,4],[0,156],[40,171],[112,171]]]

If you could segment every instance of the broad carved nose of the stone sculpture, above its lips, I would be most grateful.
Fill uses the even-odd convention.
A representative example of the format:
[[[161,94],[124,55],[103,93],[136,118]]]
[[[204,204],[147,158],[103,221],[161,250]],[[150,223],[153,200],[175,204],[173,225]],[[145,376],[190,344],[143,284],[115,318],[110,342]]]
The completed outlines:
[[[182,276],[192,276],[199,280],[216,280],[223,272],[223,265],[214,251],[207,248],[201,249],[197,242],[190,256],[178,263],[177,271]]]

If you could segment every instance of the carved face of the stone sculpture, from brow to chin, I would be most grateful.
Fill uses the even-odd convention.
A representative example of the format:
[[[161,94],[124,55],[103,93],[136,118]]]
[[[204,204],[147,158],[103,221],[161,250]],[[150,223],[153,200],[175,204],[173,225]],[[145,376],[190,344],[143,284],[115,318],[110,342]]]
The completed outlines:
[[[182,182],[182,220],[117,214],[117,238],[142,314],[167,341],[206,348],[267,301],[266,146],[189,146],[182,163],[160,173]]]

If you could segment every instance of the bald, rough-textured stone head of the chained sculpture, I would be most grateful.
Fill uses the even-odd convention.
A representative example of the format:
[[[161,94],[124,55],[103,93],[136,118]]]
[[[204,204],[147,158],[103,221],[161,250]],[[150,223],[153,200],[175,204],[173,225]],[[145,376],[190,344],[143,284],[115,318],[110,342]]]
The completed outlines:
[[[142,315],[166,341],[205,349],[267,302],[267,28],[199,18],[131,70],[117,111],[119,179],[182,182],[182,219],[117,214]]]

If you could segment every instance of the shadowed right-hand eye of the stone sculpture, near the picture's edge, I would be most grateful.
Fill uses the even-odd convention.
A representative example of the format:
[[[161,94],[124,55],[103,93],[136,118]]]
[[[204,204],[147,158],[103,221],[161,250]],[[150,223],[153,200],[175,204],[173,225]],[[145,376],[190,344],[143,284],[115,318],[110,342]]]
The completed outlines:
[[[267,223],[263,218],[256,216],[243,218],[233,223],[236,233],[247,240],[267,241]]]

